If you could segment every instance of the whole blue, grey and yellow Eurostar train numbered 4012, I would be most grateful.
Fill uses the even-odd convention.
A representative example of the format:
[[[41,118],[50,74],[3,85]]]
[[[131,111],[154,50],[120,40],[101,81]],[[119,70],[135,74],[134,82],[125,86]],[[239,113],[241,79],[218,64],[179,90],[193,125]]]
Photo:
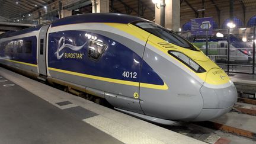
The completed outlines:
[[[0,62],[34,78],[105,98],[162,124],[228,113],[228,75],[173,31],[124,14],[66,17],[0,36]]]

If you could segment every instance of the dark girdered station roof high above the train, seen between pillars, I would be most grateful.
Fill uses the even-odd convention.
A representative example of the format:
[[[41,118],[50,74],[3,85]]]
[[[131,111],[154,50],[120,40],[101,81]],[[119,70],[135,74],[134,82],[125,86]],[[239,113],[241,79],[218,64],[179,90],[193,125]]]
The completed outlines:
[[[53,12],[53,8],[58,9],[57,3],[60,0],[0,0],[0,21],[8,20],[21,20],[21,18],[27,18],[27,15],[38,11],[51,4],[55,4],[54,7],[49,7],[48,13],[51,13],[56,17]],[[167,0],[166,0],[167,1]],[[91,12],[91,0],[62,0],[63,8],[79,9],[81,13]],[[112,3],[113,2],[113,3]],[[195,18],[200,15],[199,10],[202,9],[202,0],[180,0],[181,2],[181,17],[194,14]],[[87,4],[87,5],[82,5]],[[113,4],[113,7],[112,7]],[[72,5],[66,7],[66,5]],[[138,7],[140,6],[140,7]],[[255,0],[234,0],[234,9],[255,9]],[[204,0],[204,9],[206,14],[212,14],[212,12],[229,11],[229,0]],[[154,20],[155,17],[155,5],[151,0],[110,0],[110,12],[117,12],[122,14],[138,15],[148,20]]]

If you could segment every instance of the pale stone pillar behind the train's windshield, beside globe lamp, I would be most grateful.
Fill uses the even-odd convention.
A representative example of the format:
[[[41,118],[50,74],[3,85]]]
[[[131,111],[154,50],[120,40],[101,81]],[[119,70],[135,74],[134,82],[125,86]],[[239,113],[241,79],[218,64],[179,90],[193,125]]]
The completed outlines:
[[[165,14],[165,28],[178,31],[180,28],[180,1],[165,0],[165,12],[163,13]],[[155,22],[161,24],[161,4],[156,4]]]

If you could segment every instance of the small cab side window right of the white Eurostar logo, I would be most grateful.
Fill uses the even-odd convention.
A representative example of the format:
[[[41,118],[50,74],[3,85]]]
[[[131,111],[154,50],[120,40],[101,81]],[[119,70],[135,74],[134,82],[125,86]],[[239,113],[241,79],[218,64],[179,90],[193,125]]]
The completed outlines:
[[[89,40],[88,56],[93,60],[98,60],[105,52],[105,49],[107,49],[107,44],[96,40]]]

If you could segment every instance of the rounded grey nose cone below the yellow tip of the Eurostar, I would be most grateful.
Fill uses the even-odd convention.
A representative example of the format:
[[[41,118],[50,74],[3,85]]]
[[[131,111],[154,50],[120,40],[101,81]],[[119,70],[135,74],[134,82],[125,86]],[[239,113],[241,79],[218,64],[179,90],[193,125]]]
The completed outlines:
[[[237,91],[231,81],[228,84],[213,87],[204,84],[200,92],[203,97],[203,109],[194,121],[216,119],[228,113],[237,100]]]

